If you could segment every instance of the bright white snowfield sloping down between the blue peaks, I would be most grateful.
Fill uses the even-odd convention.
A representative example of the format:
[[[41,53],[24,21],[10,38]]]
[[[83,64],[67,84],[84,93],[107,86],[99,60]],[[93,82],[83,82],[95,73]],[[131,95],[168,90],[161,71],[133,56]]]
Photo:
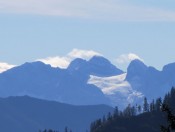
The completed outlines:
[[[97,77],[90,75],[88,84],[97,86],[111,100],[113,106],[124,108],[128,104],[134,104],[143,98],[143,94],[134,90],[130,83],[125,80],[126,73],[111,76]]]

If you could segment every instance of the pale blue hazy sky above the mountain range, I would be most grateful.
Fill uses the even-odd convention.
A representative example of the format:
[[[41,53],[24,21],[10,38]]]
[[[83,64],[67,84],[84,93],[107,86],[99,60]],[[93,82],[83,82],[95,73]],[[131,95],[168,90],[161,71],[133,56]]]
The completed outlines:
[[[56,58],[67,65],[74,57],[101,54],[122,69],[133,58],[161,69],[175,62],[174,5],[174,0],[0,0],[0,62]]]

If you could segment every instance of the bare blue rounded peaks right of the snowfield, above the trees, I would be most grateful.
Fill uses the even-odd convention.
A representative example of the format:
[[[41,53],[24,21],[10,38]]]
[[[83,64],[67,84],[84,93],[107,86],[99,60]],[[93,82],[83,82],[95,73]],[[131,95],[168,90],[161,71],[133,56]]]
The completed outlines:
[[[175,79],[173,76],[175,77],[175,65],[173,66],[173,64],[169,64],[162,71],[158,71],[154,67],[146,66],[139,60],[134,60],[128,67],[126,80],[132,88],[142,92],[149,99],[154,99],[164,96],[174,86]]]

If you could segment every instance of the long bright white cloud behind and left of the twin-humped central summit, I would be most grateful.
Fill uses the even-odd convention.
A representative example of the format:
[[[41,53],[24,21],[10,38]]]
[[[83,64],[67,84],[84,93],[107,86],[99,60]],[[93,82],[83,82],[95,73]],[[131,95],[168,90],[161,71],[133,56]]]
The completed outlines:
[[[75,58],[89,60],[95,55],[102,56],[100,53],[93,50],[73,49],[65,56],[47,57],[44,59],[38,59],[37,61],[41,61],[45,64],[50,64],[52,67],[67,68],[70,62]]]

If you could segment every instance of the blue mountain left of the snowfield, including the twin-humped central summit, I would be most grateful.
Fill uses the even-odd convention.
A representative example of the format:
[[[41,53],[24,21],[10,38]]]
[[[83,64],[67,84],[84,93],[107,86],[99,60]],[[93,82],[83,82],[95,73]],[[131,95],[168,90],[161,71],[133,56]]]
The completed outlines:
[[[110,104],[99,88],[87,83],[89,74],[119,73],[123,72],[97,56],[89,61],[75,59],[67,69],[53,68],[42,62],[25,63],[0,74],[0,96],[29,95],[74,105]]]

